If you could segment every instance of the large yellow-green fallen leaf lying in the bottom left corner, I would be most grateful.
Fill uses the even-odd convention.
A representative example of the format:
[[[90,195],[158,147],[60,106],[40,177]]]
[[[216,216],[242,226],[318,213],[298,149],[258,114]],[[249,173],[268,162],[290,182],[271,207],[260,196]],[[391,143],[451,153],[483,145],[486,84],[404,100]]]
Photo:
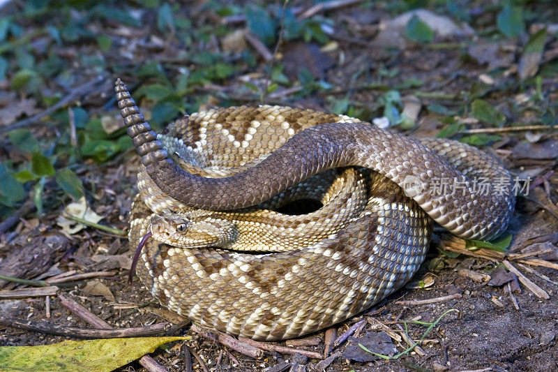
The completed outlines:
[[[1,346],[0,370],[110,372],[153,352],[160,345],[190,338],[106,338],[39,346]]]

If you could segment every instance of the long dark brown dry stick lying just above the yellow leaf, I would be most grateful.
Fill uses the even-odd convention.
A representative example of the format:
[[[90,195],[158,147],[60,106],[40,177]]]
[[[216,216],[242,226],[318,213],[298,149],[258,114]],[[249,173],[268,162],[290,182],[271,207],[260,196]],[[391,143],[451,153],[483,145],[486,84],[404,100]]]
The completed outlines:
[[[94,329],[52,325],[45,322],[33,322],[32,320],[10,318],[0,315],[0,325],[18,329],[27,329],[28,331],[33,332],[43,332],[47,334],[56,334],[59,336],[70,336],[76,338],[115,338],[155,336],[165,332],[165,329],[169,325],[169,323],[163,322],[157,323],[156,325],[146,325],[145,327],[121,329]]]

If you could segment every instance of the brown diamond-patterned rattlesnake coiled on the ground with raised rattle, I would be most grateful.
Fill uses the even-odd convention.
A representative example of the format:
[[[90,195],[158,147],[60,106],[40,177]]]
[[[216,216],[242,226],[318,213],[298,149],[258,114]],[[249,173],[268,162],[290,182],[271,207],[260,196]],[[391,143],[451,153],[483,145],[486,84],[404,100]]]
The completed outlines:
[[[465,144],[266,105],[198,112],[156,135],[120,80],[115,91],[142,157],[130,242],[137,246],[163,227],[158,239],[143,239],[137,275],[163,306],[229,334],[278,340],[350,318],[409,281],[423,262],[432,219],[465,239],[490,239],[513,211],[509,188],[479,193],[474,182],[509,187],[508,172]],[[324,207],[301,216],[262,211],[274,195],[296,194],[331,168],[345,169],[337,171],[345,178],[330,177],[317,193]],[[259,214],[257,222],[250,213]],[[243,227],[232,228],[227,243],[204,237],[210,244],[181,246],[172,237],[173,229],[181,235],[192,228],[188,216],[201,216],[200,231],[213,237],[229,214]],[[239,230],[256,225],[277,237],[294,235],[296,243],[275,253],[254,239],[232,245]],[[312,228],[321,231],[318,239]]]

